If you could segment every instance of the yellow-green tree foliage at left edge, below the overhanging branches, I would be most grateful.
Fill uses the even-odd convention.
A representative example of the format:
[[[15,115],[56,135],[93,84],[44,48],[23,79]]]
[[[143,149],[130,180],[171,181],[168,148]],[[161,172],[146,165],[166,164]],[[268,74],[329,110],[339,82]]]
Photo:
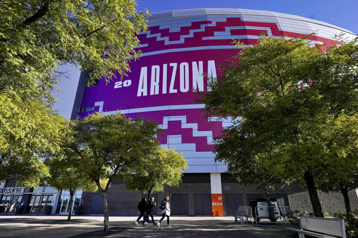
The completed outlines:
[[[18,180],[23,187],[44,183],[49,173],[40,157],[60,150],[64,128],[66,121],[49,106],[0,93],[0,181]]]

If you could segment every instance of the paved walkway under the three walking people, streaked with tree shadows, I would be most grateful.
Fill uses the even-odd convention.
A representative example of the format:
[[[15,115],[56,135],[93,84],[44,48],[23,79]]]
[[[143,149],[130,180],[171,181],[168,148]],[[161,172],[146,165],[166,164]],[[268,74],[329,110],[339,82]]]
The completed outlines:
[[[110,218],[110,233],[103,232],[103,216],[0,215],[0,237],[245,237],[285,238],[256,226],[234,223],[233,217],[170,217],[172,227],[135,225],[136,217]],[[154,217],[155,221],[159,217]],[[151,221],[151,219],[150,219]],[[287,238],[287,237],[286,237]]]

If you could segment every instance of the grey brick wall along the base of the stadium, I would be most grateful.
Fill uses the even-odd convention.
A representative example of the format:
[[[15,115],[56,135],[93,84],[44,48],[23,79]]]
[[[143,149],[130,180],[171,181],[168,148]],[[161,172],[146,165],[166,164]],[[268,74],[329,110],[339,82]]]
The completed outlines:
[[[312,212],[312,206],[308,192],[297,184],[285,185],[277,184],[275,190],[270,189],[271,194],[287,194],[290,206],[295,206],[301,212]],[[229,187],[229,190],[225,190]],[[167,195],[171,194],[189,194],[189,216],[194,216],[194,194],[211,194],[210,183],[181,183],[179,187],[166,187],[164,192],[153,192],[158,194],[158,203]],[[257,190],[256,185],[245,186],[237,183],[222,183],[223,208],[226,216],[225,194],[242,194],[243,205],[247,206],[246,194],[257,194],[262,197],[262,189]],[[91,209],[92,195],[96,192],[83,192],[81,206],[83,214],[88,215]],[[107,192],[108,214],[110,216],[135,216],[137,213],[137,204],[141,199],[141,194],[135,191],[127,191],[125,184],[112,184]],[[358,198],[355,191],[349,193],[352,210],[358,209]],[[340,193],[322,193],[319,192],[322,208],[324,212],[332,214],[333,212],[345,212],[343,196]],[[175,204],[172,204],[175,206]]]

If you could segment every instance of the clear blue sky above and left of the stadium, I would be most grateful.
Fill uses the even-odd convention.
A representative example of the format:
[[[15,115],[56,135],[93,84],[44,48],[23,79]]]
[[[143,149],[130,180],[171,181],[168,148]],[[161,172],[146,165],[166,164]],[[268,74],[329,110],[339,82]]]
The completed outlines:
[[[358,0],[137,0],[137,10],[149,12],[192,9],[192,8],[241,8],[276,11],[324,21],[358,34]],[[55,104],[63,117],[70,118],[74,96],[77,90],[79,69],[65,67],[71,79],[62,79],[58,86],[61,94],[54,95],[61,100]]]

